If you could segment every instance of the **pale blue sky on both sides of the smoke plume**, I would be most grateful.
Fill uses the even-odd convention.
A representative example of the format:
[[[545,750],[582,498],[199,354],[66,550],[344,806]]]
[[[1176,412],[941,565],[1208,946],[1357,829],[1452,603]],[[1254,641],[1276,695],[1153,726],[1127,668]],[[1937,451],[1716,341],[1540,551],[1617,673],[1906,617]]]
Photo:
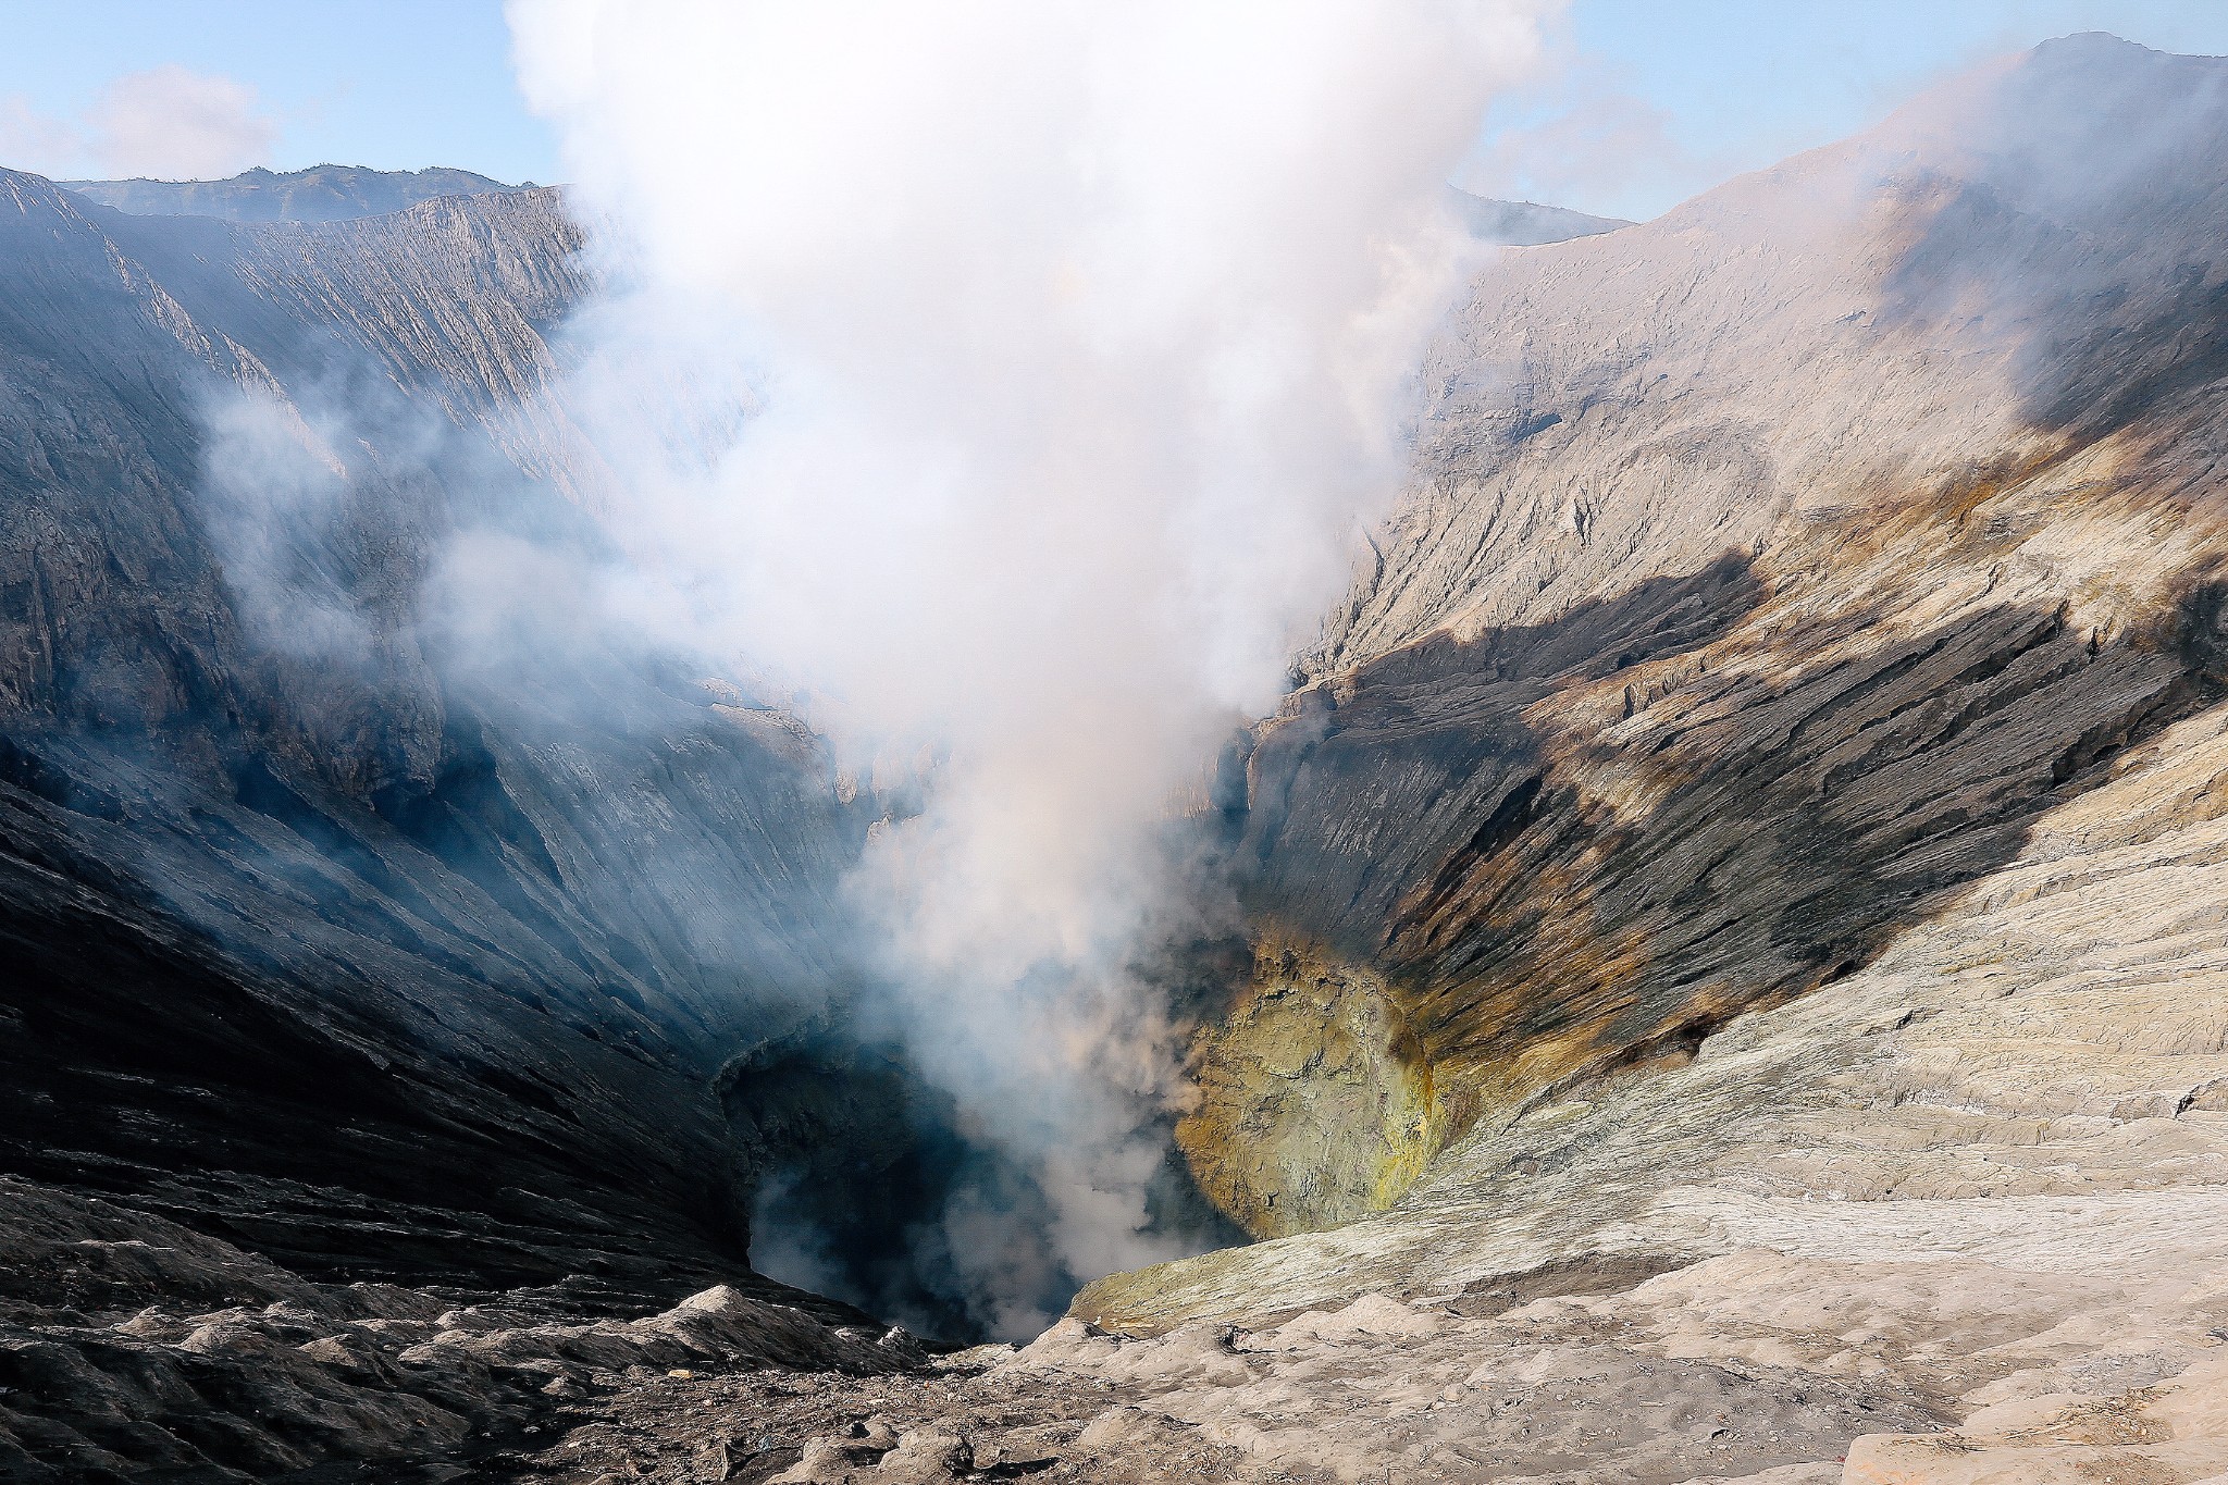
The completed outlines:
[[[1573,0],[1553,73],[1497,109],[1462,180],[1653,216],[1981,58],[2090,29],[2228,53],[2228,0]],[[499,0],[0,0],[0,165],[561,174],[512,87]],[[167,122],[178,109],[192,127]]]

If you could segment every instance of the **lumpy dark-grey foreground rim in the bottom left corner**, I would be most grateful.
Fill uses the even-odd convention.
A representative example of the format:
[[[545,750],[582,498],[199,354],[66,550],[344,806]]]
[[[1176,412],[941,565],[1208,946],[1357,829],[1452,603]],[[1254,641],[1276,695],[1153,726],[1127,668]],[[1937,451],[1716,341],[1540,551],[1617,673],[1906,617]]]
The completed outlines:
[[[530,1443],[628,1374],[871,1376],[925,1360],[902,1331],[762,1282],[582,1320],[595,1296],[579,1280],[501,1296],[319,1285],[174,1222],[4,1178],[0,1218],[9,1481],[301,1478],[321,1465],[414,1476]]]

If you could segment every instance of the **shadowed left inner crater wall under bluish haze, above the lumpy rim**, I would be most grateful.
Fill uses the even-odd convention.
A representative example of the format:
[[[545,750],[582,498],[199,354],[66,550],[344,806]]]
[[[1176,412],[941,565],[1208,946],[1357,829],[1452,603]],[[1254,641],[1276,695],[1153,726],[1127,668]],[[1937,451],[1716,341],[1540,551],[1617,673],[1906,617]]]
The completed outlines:
[[[740,1269],[713,1084],[840,980],[869,804],[731,690],[423,621],[452,532],[570,519],[483,423],[575,245],[548,191],[252,227],[0,178],[7,1169],[328,1278]],[[356,434],[247,543],[241,399]]]

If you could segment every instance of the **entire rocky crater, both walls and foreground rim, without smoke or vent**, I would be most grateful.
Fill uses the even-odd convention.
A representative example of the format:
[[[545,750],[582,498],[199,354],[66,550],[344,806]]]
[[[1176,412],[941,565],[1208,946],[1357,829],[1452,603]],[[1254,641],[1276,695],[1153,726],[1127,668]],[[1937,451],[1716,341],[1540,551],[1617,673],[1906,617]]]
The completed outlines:
[[[566,519],[555,200],[7,178],[7,1463],[2221,1476],[2224,67],[2052,42],[1499,254],[1199,819],[1252,975],[1179,1142],[1268,1240],[936,1363],[737,1262],[746,1167],[873,1144],[807,1009],[878,806],[421,621],[437,534]]]

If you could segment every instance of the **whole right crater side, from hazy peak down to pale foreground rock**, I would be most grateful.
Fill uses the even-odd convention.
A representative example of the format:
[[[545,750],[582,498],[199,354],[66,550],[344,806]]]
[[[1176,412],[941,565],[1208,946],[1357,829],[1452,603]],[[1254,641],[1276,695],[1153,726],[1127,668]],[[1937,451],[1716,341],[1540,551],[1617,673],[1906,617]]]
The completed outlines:
[[[1437,1403],[1388,1343],[1413,1423],[1257,1365],[1150,1407],[1343,1478],[2228,1467],[2224,67],[2052,42],[1477,283],[1225,770],[1263,953],[1183,1138],[1283,1236],[1089,1287],[1170,1336],[1092,1367],[1546,1285],[1597,1294]]]

